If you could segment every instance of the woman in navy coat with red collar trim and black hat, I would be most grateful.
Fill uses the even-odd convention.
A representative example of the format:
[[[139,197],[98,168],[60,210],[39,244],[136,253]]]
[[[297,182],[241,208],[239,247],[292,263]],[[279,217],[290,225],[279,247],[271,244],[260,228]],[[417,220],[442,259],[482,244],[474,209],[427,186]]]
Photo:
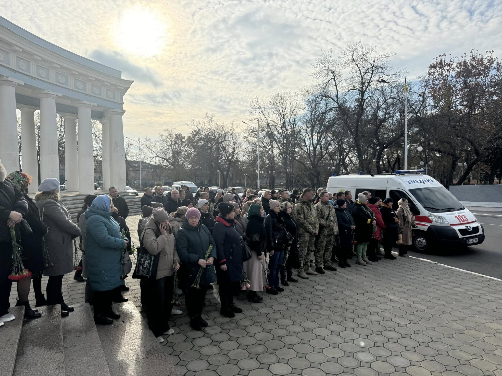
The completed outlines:
[[[233,292],[244,279],[242,270],[242,247],[244,234],[235,225],[235,210],[228,203],[218,204],[219,216],[213,228],[213,239],[216,243],[216,276],[218,280],[221,302],[220,314],[235,317],[242,309],[233,302]]]

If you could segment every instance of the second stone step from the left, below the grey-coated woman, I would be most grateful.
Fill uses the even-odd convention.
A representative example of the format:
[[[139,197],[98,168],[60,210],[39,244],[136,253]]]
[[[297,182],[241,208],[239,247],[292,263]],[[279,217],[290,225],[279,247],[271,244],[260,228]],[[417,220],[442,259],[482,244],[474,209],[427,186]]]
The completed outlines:
[[[14,376],[65,376],[61,307],[37,308],[42,317],[25,320]]]

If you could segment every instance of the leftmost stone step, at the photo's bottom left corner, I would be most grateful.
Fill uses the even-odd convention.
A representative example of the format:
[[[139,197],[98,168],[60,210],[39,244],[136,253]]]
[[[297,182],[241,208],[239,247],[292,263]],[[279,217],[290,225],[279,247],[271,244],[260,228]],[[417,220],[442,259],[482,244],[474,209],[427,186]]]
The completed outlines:
[[[25,307],[12,307],[9,309],[16,318],[9,322],[4,322],[0,328],[2,340],[0,341],[0,369],[1,374],[12,376],[14,365],[16,364],[16,353],[18,352],[19,339],[23,328],[23,316]]]

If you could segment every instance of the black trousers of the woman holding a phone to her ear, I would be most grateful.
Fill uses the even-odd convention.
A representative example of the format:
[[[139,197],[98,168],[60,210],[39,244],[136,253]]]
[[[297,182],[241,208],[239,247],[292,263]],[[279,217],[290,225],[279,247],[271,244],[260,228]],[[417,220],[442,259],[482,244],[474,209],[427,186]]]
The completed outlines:
[[[155,280],[146,280],[148,327],[156,337],[169,330],[173,305],[174,274]]]

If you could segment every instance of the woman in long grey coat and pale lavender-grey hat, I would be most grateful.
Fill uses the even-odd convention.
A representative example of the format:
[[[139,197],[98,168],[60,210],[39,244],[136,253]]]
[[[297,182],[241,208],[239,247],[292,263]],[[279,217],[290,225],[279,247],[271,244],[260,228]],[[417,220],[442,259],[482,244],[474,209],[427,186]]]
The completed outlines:
[[[44,224],[49,227],[45,243],[53,267],[44,269],[47,282],[47,305],[61,305],[61,314],[66,316],[75,309],[63,299],[62,284],[65,274],[75,270],[73,262],[73,239],[80,236],[80,229],[70,217],[68,209],[59,197],[59,180],[48,177],[38,187],[35,195],[39,212],[43,211]]]

